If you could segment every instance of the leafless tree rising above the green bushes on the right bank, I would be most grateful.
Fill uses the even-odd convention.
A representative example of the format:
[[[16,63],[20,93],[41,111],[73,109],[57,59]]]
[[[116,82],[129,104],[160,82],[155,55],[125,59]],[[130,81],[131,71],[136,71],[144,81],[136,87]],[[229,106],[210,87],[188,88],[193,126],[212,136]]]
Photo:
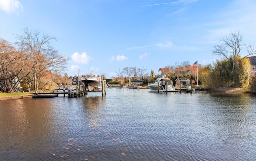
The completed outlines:
[[[214,46],[214,55],[222,55],[226,59],[233,62],[232,66],[232,73],[234,73],[235,65],[238,63],[238,57],[240,57],[240,52],[242,51],[243,47],[246,47],[247,49],[247,55],[242,57],[244,59],[245,57],[249,55],[256,54],[256,49],[254,49],[254,46],[249,43],[249,45],[244,44],[243,36],[239,33],[234,31],[228,34],[226,38],[223,38],[220,40],[222,45],[215,45]]]

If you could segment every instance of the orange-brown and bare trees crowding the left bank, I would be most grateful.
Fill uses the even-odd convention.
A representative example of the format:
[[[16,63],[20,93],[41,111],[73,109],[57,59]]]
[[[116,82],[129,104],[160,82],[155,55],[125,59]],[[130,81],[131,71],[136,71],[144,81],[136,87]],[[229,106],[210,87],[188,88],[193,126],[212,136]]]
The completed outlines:
[[[62,71],[67,68],[68,58],[52,47],[51,41],[56,39],[28,28],[22,31],[15,43],[0,39],[0,90],[19,90],[20,81],[27,82],[28,90],[50,89],[55,82],[67,79]],[[11,86],[14,78],[17,81]]]

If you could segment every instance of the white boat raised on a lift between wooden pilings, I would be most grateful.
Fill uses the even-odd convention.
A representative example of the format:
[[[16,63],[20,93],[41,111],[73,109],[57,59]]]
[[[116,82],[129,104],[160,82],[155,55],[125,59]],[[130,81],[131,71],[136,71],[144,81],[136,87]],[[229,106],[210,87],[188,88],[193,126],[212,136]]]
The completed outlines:
[[[81,80],[86,90],[88,91],[99,91],[102,88],[102,82],[100,76],[90,73],[86,75],[86,78]]]

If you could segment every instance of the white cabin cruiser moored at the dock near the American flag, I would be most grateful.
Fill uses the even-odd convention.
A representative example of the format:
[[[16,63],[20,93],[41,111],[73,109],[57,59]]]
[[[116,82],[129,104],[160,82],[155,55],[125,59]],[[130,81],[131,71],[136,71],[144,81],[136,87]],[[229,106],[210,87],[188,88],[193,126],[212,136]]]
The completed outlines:
[[[169,78],[166,78],[166,75],[164,75],[164,73],[162,73],[154,83],[148,83],[148,87],[150,88],[151,91],[156,91],[156,92],[178,91],[178,90],[175,90],[172,80]]]

